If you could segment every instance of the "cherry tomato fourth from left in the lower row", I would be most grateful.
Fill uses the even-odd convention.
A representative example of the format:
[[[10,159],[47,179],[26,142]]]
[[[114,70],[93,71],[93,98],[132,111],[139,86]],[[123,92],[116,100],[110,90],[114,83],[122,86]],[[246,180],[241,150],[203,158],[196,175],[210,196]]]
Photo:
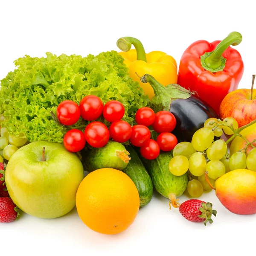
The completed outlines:
[[[136,147],[143,146],[150,139],[150,131],[145,125],[134,125],[131,128],[131,144]]]

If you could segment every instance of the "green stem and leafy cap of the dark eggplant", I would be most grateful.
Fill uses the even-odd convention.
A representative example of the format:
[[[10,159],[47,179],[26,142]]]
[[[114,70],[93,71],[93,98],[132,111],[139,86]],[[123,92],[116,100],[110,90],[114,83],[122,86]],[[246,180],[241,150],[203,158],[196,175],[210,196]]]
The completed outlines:
[[[188,99],[192,93],[178,84],[163,86],[153,76],[145,74],[141,77],[142,83],[149,83],[154,90],[155,96],[151,99],[151,108],[155,111],[169,111],[172,100]]]

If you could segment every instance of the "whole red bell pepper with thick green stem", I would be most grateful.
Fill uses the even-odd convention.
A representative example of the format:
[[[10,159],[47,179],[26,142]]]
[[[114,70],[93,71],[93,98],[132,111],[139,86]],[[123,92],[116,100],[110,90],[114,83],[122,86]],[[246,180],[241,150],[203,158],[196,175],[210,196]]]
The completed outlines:
[[[219,113],[222,100],[237,89],[244,73],[240,53],[230,47],[241,41],[239,32],[231,32],[222,41],[199,40],[191,44],[180,60],[178,84],[194,90]]]

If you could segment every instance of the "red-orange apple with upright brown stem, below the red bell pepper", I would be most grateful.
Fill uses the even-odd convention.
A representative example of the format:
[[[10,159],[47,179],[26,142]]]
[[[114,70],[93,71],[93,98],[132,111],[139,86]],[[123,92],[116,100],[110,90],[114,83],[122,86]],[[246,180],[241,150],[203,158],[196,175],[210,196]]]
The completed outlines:
[[[256,119],[256,89],[253,89],[253,83],[252,89],[234,90],[225,96],[220,105],[220,118],[226,117],[236,119],[239,127]]]

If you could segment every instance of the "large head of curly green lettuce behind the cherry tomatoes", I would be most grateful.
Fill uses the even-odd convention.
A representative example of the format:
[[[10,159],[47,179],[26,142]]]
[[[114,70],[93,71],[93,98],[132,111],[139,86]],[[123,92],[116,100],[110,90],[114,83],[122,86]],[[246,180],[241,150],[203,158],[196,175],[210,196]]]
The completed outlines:
[[[84,96],[99,96],[104,103],[115,99],[125,106],[123,119],[134,124],[136,111],[148,104],[139,84],[128,74],[117,52],[97,56],[60,55],[46,58],[25,56],[15,61],[17,69],[1,80],[2,127],[12,136],[24,135],[30,142],[62,143],[67,127],[52,119],[58,104],[66,99],[79,104]],[[87,125],[79,119],[73,128]]]

